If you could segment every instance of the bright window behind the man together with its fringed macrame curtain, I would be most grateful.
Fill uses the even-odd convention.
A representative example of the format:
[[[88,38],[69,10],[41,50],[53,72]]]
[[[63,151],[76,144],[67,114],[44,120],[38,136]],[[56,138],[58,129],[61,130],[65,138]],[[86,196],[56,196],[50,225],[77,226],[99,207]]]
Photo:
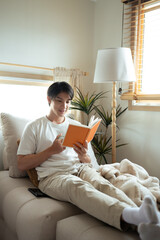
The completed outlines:
[[[76,96],[76,87],[81,90],[81,80],[87,75],[79,69],[51,69],[0,62],[0,112],[31,119],[47,114],[47,89],[53,81],[68,82]],[[70,110],[69,115],[82,121],[78,111]]]

